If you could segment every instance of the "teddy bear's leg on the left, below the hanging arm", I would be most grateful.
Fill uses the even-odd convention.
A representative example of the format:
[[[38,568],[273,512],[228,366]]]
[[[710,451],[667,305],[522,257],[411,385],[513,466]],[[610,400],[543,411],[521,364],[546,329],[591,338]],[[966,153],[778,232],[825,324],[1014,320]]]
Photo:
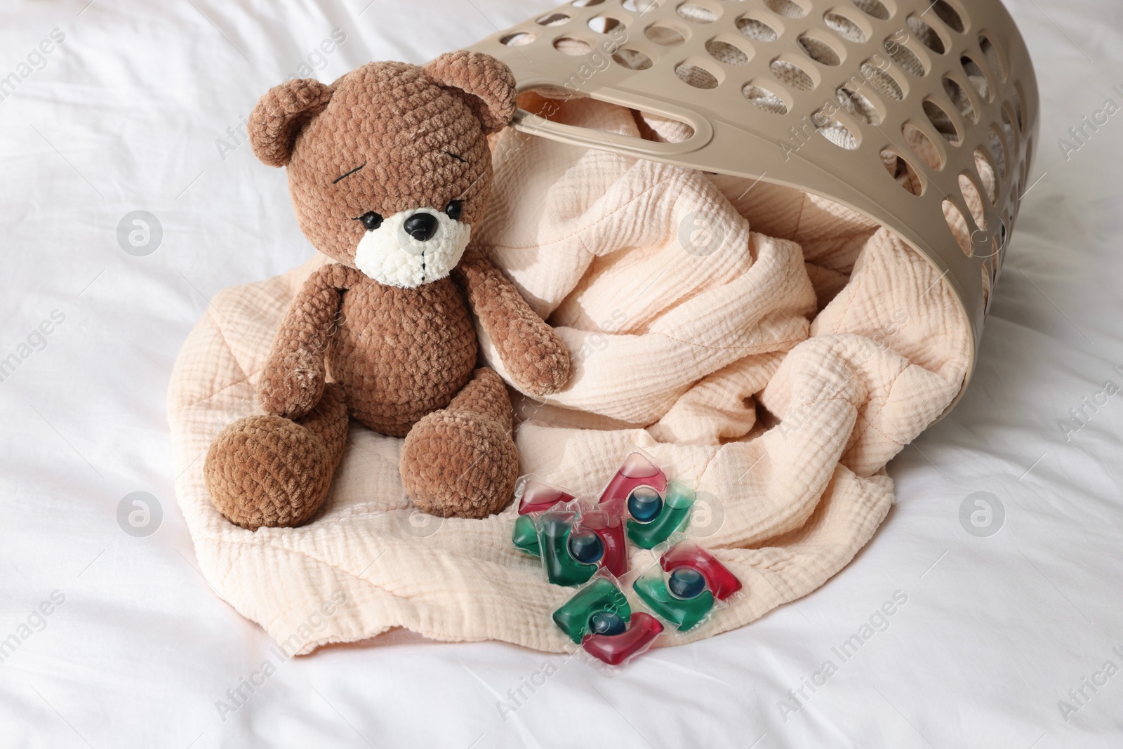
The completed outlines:
[[[219,432],[203,475],[211,502],[249,530],[294,527],[323,504],[347,440],[347,402],[329,384],[300,419],[253,415]]]

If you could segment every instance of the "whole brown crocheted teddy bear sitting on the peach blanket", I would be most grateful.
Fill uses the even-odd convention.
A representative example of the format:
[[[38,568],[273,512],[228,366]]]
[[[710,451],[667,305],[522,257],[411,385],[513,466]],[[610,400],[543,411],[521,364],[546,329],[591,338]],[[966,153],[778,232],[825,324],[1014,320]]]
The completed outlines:
[[[402,483],[421,510],[483,518],[510,501],[511,402],[499,375],[476,367],[475,326],[519,390],[544,395],[569,378],[557,335],[468,241],[491,191],[487,135],[511,121],[514,97],[506,65],[468,52],[262,97],[254,153],[287,166],[300,228],[336,262],[281,322],[258,383],[267,415],[230,424],[207,455],[211,500],[231,522],[312,518],[348,415],[405,438]]]

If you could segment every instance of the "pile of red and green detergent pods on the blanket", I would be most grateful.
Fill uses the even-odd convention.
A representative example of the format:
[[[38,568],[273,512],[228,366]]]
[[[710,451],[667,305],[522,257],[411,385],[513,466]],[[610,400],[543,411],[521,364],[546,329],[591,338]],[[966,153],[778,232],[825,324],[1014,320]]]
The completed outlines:
[[[640,453],[624,459],[596,503],[531,477],[520,479],[515,497],[514,545],[541,559],[550,583],[581,587],[554,622],[605,664],[627,663],[667,627],[697,627],[741,590],[724,565],[683,536],[694,491],[668,482]],[[629,542],[661,550],[658,564],[629,574]],[[632,612],[621,591],[626,578],[652,613]]]

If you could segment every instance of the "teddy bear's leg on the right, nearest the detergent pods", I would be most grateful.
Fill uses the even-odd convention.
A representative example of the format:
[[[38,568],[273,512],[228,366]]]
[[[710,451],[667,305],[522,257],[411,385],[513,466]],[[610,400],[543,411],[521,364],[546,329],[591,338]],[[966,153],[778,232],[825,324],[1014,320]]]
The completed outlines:
[[[405,493],[435,515],[486,518],[511,501],[519,453],[511,439],[511,399],[491,368],[405,436],[401,459]]]

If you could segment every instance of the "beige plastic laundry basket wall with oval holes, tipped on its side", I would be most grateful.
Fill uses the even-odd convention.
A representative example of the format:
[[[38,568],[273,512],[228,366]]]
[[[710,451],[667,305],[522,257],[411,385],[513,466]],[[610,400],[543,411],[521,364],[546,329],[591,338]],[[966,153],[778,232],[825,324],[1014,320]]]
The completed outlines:
[[[1039,119],[1029,52],[998,0],[575,0],[474,48],[510,65],[520,91],[694,130],[656,143],[520,110],[522,131],[764,179],[893,229],[958,295],[970,378]]]

